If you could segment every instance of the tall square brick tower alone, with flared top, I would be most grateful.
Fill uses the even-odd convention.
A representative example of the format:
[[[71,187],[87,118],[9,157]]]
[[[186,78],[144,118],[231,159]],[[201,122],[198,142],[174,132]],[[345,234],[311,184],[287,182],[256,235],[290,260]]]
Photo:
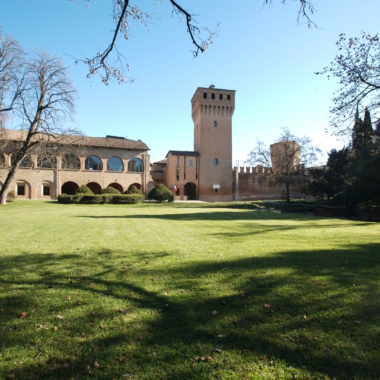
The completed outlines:
[[[198,197],[232,200],[232,115],[235,91],[198,87],[191,99],[194,151],[200,153]]]

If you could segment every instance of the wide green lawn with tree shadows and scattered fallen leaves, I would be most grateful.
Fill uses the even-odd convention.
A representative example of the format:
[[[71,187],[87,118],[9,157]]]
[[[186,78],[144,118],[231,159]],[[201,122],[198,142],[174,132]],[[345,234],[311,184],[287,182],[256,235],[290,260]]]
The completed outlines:
[[[1,379],[379,379],[380,225],[0,208]]]

